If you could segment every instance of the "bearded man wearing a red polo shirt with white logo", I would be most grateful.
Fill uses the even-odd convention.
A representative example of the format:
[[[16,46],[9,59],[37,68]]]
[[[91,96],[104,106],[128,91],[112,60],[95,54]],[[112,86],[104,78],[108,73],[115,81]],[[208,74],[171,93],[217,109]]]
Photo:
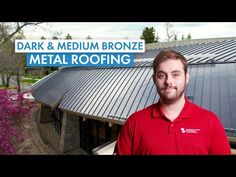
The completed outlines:
[[[153,70],[160,99],[128,118],[114,154],[231,154],[218,117],[185,97],[189,74],[184,56],[172,50],[161,51],[154,59]]]

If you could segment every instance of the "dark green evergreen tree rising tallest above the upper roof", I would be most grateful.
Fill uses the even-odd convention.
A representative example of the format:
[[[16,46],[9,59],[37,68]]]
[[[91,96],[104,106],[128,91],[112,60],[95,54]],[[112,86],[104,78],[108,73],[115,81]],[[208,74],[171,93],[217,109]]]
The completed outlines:
[[[143,30],[142,35],[140,36],[140,39],[144,39],[145,40],[145,44],[149,44],[149,43],[155,43],[159,40],[159,37],[155,37],[155,29],[154,27],[146,27]]]

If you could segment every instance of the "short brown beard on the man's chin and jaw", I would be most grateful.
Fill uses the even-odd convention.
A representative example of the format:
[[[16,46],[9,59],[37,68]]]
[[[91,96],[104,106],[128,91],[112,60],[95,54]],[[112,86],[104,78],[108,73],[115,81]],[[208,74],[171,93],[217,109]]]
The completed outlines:
[[[175,95],[171,95],[169,97],[165,93],[166,89],[175,89]],[[185,86],[182,88],[182,90],[180,90],[180,92],[178,92],[178,88],[175,86],[165,86],[165,87],[161,88],[160,90],[158,90],[158,94],[160,96],[161,101],[164,104],[173,104],[183,96],[185,89],[186,89],[186,83],[185,83]],[[170,93],[170,94],[173,94],[173,93]]]

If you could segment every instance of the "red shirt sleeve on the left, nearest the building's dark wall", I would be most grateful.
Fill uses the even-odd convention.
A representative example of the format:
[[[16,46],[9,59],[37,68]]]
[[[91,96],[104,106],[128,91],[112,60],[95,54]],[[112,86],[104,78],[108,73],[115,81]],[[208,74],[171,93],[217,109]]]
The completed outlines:
[[[132,129],[130,118],[125,122],[121,128],[117,142],[114,148],[114,155],[131,155],[132,154]]]

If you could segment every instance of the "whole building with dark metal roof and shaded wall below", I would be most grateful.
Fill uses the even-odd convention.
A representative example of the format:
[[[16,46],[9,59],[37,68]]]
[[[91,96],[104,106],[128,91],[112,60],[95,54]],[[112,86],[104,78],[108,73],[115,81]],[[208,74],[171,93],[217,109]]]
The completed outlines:
[[[116,140],[129,115],[156,102],[152,60],[167,48],[188,60],[186,96],[216,113],[228,136],[236,136],[236,38],[186,40],[147,45],[145,53],[135,55],[133,67],[62,68],[35,83],[39,123],[51,122],[59,152],[92,153]]]

